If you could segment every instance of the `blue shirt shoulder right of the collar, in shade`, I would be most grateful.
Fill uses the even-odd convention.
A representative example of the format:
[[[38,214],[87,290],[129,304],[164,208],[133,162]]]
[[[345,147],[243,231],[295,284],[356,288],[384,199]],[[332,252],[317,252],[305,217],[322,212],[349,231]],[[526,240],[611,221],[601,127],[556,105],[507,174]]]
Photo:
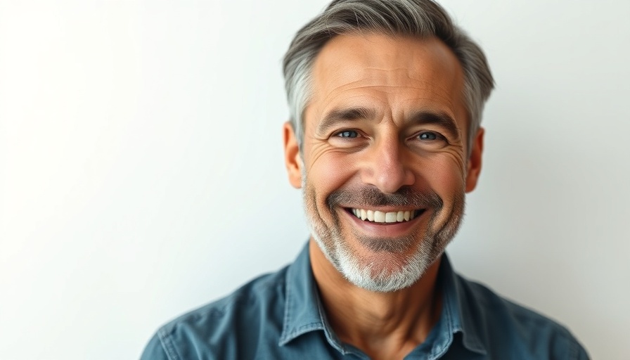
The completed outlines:
[[[457,276],[463,317],[488,352],[510,359],[588,359],[565,326],[497,295],[487,286]]]

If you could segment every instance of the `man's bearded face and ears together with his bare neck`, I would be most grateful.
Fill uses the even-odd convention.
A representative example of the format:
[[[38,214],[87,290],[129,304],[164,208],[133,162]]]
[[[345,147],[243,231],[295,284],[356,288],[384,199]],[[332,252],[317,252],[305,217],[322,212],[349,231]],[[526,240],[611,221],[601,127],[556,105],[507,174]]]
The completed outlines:
[[[339,35],[314,63],[301,154],[285,124],[328,320],[371,359],[402,359],[439,319],[439,255],[481,169],[483,129],[468,154],[462,89],[461,65],[439,39]],[[380,224],[353,209],[416,217]]]

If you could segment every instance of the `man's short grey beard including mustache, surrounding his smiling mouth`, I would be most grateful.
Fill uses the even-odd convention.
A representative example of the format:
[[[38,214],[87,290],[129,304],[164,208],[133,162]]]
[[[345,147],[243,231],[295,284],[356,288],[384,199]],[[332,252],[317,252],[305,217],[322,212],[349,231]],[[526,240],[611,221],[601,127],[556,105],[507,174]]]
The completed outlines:
[[[304,174],[303,174],[304,175]],[[446,245],[456,235],[465,207],[465,193],[462,190],[454,195],[453,207],[442,226],[437,224],[438,214],[443,211],[442,198],[432,191],[420,192],[404,187],[397,193],[384,194],[373,187],[350,190],[339,189],[326,198],[328,212],[334,224],[328,226],[321,219],[321,212],[316,204],[316,191],[302,176],[302,196],[307,222],[317,245],[326,255],[335,269],[347,281],[369,291],[389,293],[416,283],[428,267],[442,255]],[[352,199],[352,201],[349,201]],[[430,211],[430,220],[424,233],[416,231],[401,238],[375,238],[353,231],[353,235],[365,248],[376,253],[383,253],[387,259],[381,264],[373,259],[366,259],[354,253],[343,238],[340,219],[335,209],[340,203],[352,203],[361,208],[375,206],[410,207]],[[411,255],[409,254],[411,250]],[[394,269],[391,269],[392,266]]]

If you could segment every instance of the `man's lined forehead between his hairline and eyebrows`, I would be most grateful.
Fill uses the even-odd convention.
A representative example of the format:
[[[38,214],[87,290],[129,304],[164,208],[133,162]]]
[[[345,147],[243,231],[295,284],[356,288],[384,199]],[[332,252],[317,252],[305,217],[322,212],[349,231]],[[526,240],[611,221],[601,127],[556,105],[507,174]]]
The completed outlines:
[[[316,58],[312,85],[307,119],[361,106],[392,117],[436,110],[465,124],[463,70],[454,53],[434,37],[339,35]]]

